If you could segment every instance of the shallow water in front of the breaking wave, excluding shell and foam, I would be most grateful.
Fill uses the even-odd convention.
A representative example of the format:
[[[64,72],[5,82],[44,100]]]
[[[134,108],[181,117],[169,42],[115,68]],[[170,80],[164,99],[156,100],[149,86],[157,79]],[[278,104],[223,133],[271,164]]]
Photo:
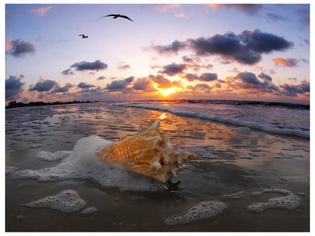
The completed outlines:
[[[69,156],[81,138],[114,141],[144,131],[155,119],[161,119],[162,133],[170,133],[174,144],[199,156],[178,172],[168,190],[152,191],[156,182],[104,169],[104,178],[131,179],[147,191],[132,184],[128,190],[119,183],[109,186],[102,176],[94,177],[103,168],[97,163],[71,166]],[[17,108],[6,110],[6,167],[6,231],[309,231],[309,140],[303,138],[106,103]],[[22,178],[25,170],[32,174]],[[43,170],[49,181],[38,179]],[[85,202],[79,210],[27,205],[70,190]],[[295,202],[284,204],[293,209],[250,210],[257,202],[288,196]],[[207,219],[167,223],[199,209],[201,202],[226,207]]]

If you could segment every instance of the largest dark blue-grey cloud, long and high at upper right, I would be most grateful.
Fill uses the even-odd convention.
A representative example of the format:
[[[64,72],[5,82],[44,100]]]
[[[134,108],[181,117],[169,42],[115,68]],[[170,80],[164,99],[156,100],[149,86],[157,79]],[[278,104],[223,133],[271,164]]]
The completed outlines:
[[[261,60],[262,53],[287,50],[290,47],[293,47],[293,43],[286,39],[255,29],[254,31],[244,30],[239,35],[228,32],[207,38],[188,38],[185,42],[175,40],[170,45],[155,45],[152,48],[160,54],[190,49],[198,56],[220,55],[225,59],[238,61],[240,64],[252,65]]]

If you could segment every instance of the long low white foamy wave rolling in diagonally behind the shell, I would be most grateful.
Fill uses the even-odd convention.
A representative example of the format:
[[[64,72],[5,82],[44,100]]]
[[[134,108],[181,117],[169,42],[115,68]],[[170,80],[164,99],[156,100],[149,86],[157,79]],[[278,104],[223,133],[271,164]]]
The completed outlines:
[[[255,121],[246,121],[242,119],[223,117],[223,116],[214,115],[214,114],[206,113],[206,112],[190,112],[186,110],[177,110],[177,109],[172,109],[172,108],[164,108],[164,107],[139,104],[139,103],[111,103],[110,105],[130,107],[130,108],[144,108],[148,110],[160,110],[162,112],[169,112],[174,115],[179,115],[179,116],[184,116],[184,117],[207,119],[210,121],[218,121],[225,124],[233,124],[236,126],[254,128],[254,129],[258,129],[260,131],[265,131],[268,133],[275,133],[275,134],[280,134],[280,135],[291,135],[291,136],[309,139],[309,131],[298,131],[298,130],[288,129],[288,128],[277,128],[275,126],[272,126],[271,124],[265,124],[265,123],[261,124]]]

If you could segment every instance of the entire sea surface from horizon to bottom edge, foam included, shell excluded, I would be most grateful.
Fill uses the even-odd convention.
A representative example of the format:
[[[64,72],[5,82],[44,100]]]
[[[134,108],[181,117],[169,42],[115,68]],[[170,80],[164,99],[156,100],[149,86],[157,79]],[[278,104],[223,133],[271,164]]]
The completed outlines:
[[[96,150],[160,119],[197,159],[162,184]],[[146,101],[6,110],[6,231],[309,231],[309,108]],[[150,210],[148,210],[150,209]]]

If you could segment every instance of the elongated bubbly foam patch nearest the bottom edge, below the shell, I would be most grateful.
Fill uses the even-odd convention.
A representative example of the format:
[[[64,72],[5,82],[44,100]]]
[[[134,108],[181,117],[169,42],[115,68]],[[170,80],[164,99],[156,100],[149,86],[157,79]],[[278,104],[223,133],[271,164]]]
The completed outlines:
[[[225,205],[225,203],[216,200],[202,201],[199,204],[190,207],[186,214],[170,217],[165,220],[165,223],[168,225],[176,225],[179,223],[190,223],[209,219],[223,212],[227,207],[228,206]]]

